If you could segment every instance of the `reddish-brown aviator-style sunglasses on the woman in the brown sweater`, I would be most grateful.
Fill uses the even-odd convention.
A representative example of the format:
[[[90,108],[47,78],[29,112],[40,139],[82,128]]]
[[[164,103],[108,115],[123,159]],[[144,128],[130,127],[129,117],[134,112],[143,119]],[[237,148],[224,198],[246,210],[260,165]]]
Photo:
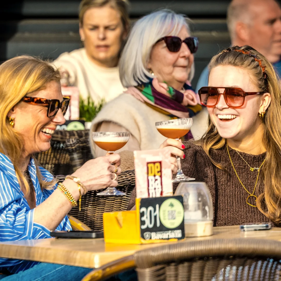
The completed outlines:
[[[218,89],[225,89],[223,93],[219,93]],[[261,95],[266,92],[244,92],[240,88],[228,87],[202,87],[198,94],[202,105],[207,107],[216,106],[219,102],[219,96],[223,95],[225,103],[232,108],[243,106],[246,96]]]

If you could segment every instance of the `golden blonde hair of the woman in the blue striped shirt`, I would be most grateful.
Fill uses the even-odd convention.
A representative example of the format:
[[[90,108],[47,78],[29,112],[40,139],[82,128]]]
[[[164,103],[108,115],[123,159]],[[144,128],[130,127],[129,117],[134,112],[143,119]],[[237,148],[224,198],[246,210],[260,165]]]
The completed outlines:
[[[10,126],[8,113],[24,96],[44,89],[51,81],[59,83],[60,73],[40,58],[17,56],[0,65],[0,152],[10,158],[20,185],[24,183],[26,195],[30,192],[29,184],[19,169],[24,142],[21,134]],[[40,187],[53,187],[55,180],[47,182],[42,178],[36,160],[35,166]]]

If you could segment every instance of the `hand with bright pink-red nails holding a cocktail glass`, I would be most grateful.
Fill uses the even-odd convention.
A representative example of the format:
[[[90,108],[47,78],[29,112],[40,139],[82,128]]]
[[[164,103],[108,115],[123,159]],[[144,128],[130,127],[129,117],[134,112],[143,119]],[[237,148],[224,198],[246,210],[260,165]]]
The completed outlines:
[[[166,139],[161,145],[160,148],[167,149],[170,153],[170,163],[171,163],[171,169],[173,171],[173,174],[176,174],[178,172],[178,164],[176,161],[176,157],[180,157],[181,159],[185,158],[183,149],[185,146],[182,144],[182,140],[176,140],[176,139]]]

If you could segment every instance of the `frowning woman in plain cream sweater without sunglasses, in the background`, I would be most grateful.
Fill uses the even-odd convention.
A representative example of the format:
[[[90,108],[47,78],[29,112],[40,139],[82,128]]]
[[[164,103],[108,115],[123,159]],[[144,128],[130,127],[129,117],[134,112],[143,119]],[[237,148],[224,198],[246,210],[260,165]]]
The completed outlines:
[[[83,0],[79,32],[84,48],[61,54],[54,62],[62,85],[77,86],[81,96],[105,102],[123,92],[118,70],[120,49],[129,28],[127,0]]]

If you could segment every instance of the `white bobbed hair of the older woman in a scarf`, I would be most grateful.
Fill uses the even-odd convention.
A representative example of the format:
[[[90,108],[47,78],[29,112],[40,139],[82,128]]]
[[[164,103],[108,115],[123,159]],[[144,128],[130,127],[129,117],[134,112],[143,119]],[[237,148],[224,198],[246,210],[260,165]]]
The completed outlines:
[[[147,69],[152,47],[162,37],[178,35],[183,26],[190,33],[188,22],[189,18],[170,10],[150,13],[135,22],[119,60],[122,85],[137,86],[148,82],[148,77],[153,78]],[[194,65],[189,80],[193,74]]]

